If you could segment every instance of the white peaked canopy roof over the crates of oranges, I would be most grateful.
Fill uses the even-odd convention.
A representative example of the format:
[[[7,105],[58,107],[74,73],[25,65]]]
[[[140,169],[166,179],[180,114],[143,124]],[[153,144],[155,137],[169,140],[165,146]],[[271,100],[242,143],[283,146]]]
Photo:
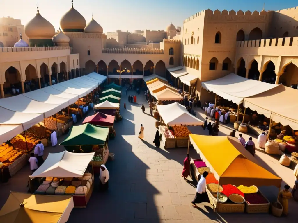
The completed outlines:
[[[203,122],[190,114],[186,108],[175,102],[168,105],[156,105],[166,125],[202,125]]]

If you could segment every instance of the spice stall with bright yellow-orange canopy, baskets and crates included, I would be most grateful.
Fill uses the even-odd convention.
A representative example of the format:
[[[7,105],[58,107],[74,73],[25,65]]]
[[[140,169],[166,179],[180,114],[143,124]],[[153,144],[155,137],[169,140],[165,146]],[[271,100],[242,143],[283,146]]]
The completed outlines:
[[[257,187],[280,188],[282,180],[261,167],[237,138],[190,134],[188,152],[190,145],[202,159],[196,174],[210,173],[206,191],[218,212],[268,213],[270,202]]]

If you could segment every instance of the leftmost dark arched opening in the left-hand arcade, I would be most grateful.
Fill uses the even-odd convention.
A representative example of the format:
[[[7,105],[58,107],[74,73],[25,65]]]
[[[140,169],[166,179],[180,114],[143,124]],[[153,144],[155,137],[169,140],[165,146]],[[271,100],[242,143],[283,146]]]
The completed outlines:
[[[5,98],[22,93],[21,73],[15,67],[9,67],[5,71],[3,85]]]

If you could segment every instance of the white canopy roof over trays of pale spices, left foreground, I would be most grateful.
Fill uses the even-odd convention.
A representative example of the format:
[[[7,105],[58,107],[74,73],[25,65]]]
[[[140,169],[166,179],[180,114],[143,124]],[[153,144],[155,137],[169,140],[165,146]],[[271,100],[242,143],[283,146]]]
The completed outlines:
[[[99,127],[98,127],[99,128]],[[49,153],[44,163],[30,176],[36,177],[83,177],[94,153]]]

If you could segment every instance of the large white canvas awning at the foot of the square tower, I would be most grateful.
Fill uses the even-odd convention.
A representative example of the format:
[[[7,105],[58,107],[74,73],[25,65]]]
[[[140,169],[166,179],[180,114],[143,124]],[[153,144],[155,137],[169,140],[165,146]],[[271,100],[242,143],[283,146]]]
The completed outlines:
[[[224,99],[240,104],[243,98],[266,92],[277,87],[277,85],[251,80],[231,73],[213,81],[202,82],[202,87]]]

